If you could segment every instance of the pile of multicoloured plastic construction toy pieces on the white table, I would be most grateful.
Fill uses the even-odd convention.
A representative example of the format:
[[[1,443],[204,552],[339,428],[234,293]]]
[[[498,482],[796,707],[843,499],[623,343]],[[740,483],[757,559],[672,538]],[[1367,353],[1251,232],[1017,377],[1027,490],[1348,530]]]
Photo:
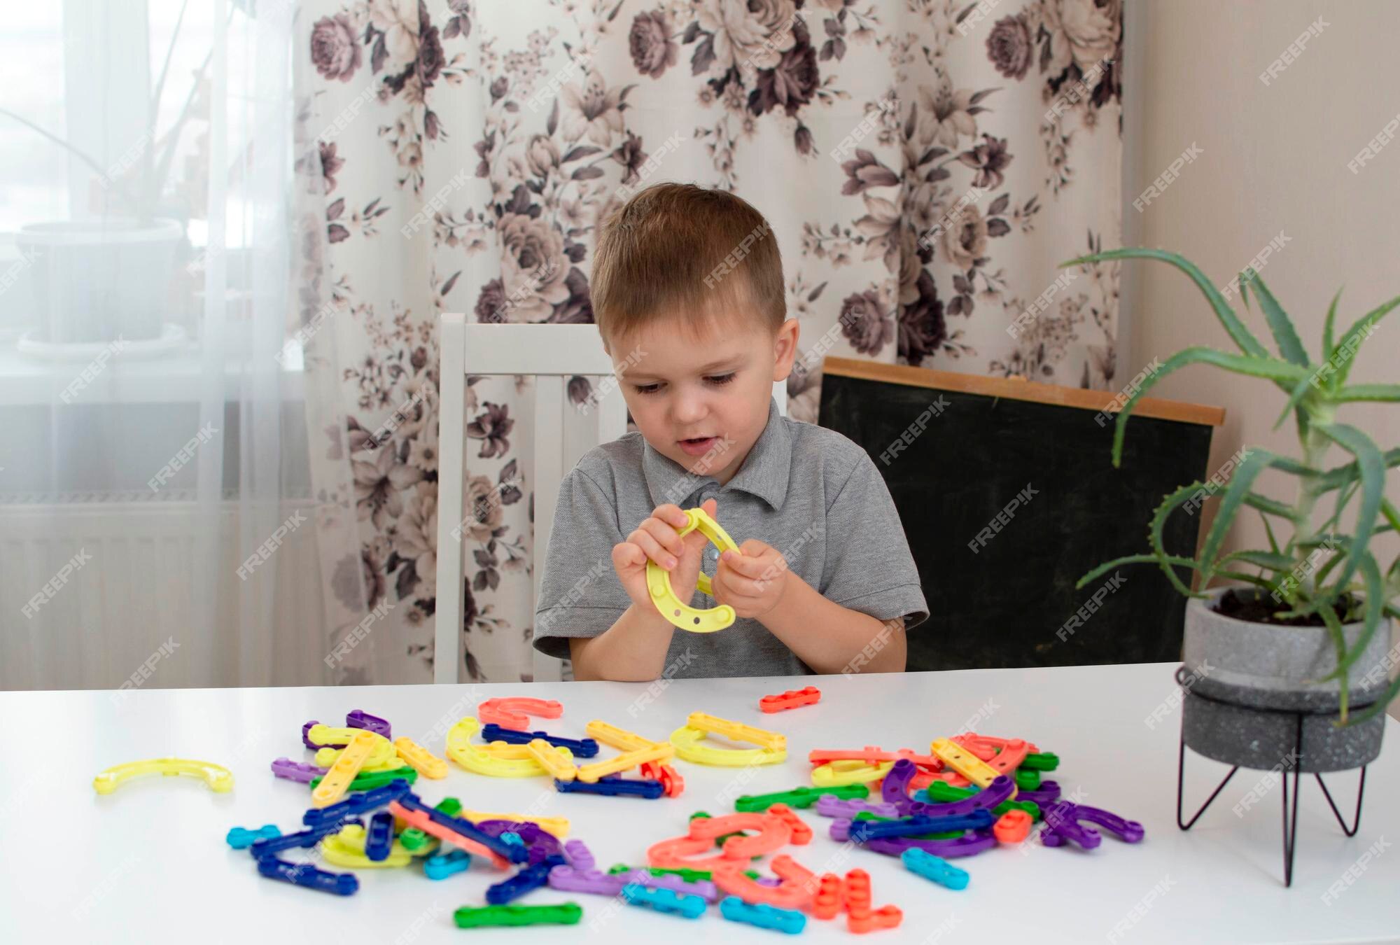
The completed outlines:
[[[769,696],[763,711],[783,711],[820,699],[813,687]],[[668,764],[673,757],[699,764],[773,764],[787,757],[787,739],[704,713],[693,713],[666,742],[654,742],[602,721],[588,738],[566,739],[526,731],[529,715],[559,718],[563,707],[538,699],[493,699],[477,717],[462,718],[448,734],[448,759],[494,777],[549,776],[559,791],[655,799],[685,788]],[[482,735],[484,742],[473,742]],[[711,734],[752,749],[707,745]],[[833,840],[896,857],[904,868],[948,889],[965,889],[969,874],[948,862],[995,846],[1032,839],[1047,847],[1093,848],[1099,829],[1127,843],[1142,839],[1141,825],[1099,808],[1063,799],[1060,787],[1042,780],[1058,759],[1021,739],[977,734],[935,739],[927,755],[910,749],[819,749],[809,755],[812,787],[735,801],[735,813],[692,815],[680,836],[654,843],[645,867],[603,871],[581,840],[566,840],[563,818],[465,811],[455,798],[435,806],[413,791],[416,780],[442,778],[448,762],[407,738],[392,738],[389,724],[363,711],[344,728],[319,722],[302,727],[302,742],[315,763],[277,759],[273,773],[311,785],[312,806],[302,829],[281,834],[276,826],[234,827],[228,843],[246,848],[267,878],[337,895],[351,895],[358,879],[314,864],[288,862],[281,853],[316,847],[321,858],[346,869],[409,867],[421,861],[428,879],[445,879],[479,858],[505,875],[486,890],[486,906],[458,909],[459,927],[574,924],[575,902],[529,906],[515,900],[536,889],[608,896],[627,906],[699,918],[711,903],[724,918],[784,932],[799,932],[808,917],[844,914],[853,932],[893,928],[903,914],[876,906],[871,876],[816,874],[783,853],[811,843],[813,829],[798,815],[815,809],[829,818]],[[599,745],[619,750],[596,757]],[[640,777],[622,777],[638,769]],[[872,790],[878,797],[872,797]],[[367,818],[367,820],[365,820]],[[755,860],[774,854],[773,874],[755,871]]]

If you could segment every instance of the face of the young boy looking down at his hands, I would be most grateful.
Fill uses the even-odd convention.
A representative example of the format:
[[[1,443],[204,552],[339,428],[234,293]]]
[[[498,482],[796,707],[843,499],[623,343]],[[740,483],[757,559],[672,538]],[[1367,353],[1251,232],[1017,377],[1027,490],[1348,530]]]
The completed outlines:
[[[794,319],[774,335],[752,319],[713,318],[693,337],[662,318],[605,347],[647,442],[724,486],[763,433],[773,382],[792,370],[797,337]]]

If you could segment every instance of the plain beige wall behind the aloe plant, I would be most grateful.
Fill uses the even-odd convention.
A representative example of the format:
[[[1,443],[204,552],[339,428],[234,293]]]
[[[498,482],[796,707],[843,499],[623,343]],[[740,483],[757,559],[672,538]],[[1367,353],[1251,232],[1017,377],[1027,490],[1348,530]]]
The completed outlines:
[[[1127,0],[1124,15],[1124,244],[1182,252],[1224,286],[1282,231],[1288,242],[1261,276],[1313,357],[1338,287],[1343,326],[1400,295],[1400,139],[1359,172],[1347,168],[1400,113],[1400,3]],[[1327,25],[1266,85],[1260,73],[1319,15]],[[1200,157],[1138,213],[1133,200],[1193,143]],[[1190,344],[1236,350],[1176,269],[1124,263],[1121,288],[1123,382]],[[1247,322],[1273,349],[1257,308]],[[1368,342],[1352,378],[1400,382],[1400,311]],[[1291,423],[1270,430],[1285,398],[1267,381],[1193,367],[1154,393],[1226,409],[1210,472],[1240,445],[1296,455]],[[1359,405],[1338,419],[1383,449],[1400,445],[1400,405]],[[1291,498],[1294,482],[1266,479],[1261,490]],[[1400,476],[1390,483],[1400,494]],[[1242,517],[1231,546],[1267,546],[1257,515]],[[1385,566],[1396,543],[1382,547]]]

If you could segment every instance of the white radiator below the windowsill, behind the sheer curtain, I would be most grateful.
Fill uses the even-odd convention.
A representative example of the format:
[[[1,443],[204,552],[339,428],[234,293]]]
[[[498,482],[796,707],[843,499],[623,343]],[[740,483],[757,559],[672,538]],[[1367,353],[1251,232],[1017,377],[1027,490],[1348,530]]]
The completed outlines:
[[[195,501],[63,498],[0,505],[0,689],[329,682],[314,528],[290,532],[244,582],[235,573],[238,504],[224,501],[217,596],[196,606]],[[286,504],[284,514],[302,507],[315,521],[309,501]],[[53,581],[76,557],[66,580]],[[36,594],[49,596],[35,602]],[[239,608],[270,612],[249,615],[242,623],[252,630],[241,631]],[[241,641],[241,633],[253,638]],[[266,657],[244,666],[241,651]]]

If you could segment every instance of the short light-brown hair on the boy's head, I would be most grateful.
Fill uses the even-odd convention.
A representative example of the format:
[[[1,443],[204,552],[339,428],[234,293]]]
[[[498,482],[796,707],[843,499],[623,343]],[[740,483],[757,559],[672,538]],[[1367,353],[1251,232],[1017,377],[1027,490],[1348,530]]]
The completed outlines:
[[[589,294],[605,340],[658,318],[690,330],[721,312],[773,332],[787,321],[773,227],[743,197],[693,183],[652,185],[603,221]]]

